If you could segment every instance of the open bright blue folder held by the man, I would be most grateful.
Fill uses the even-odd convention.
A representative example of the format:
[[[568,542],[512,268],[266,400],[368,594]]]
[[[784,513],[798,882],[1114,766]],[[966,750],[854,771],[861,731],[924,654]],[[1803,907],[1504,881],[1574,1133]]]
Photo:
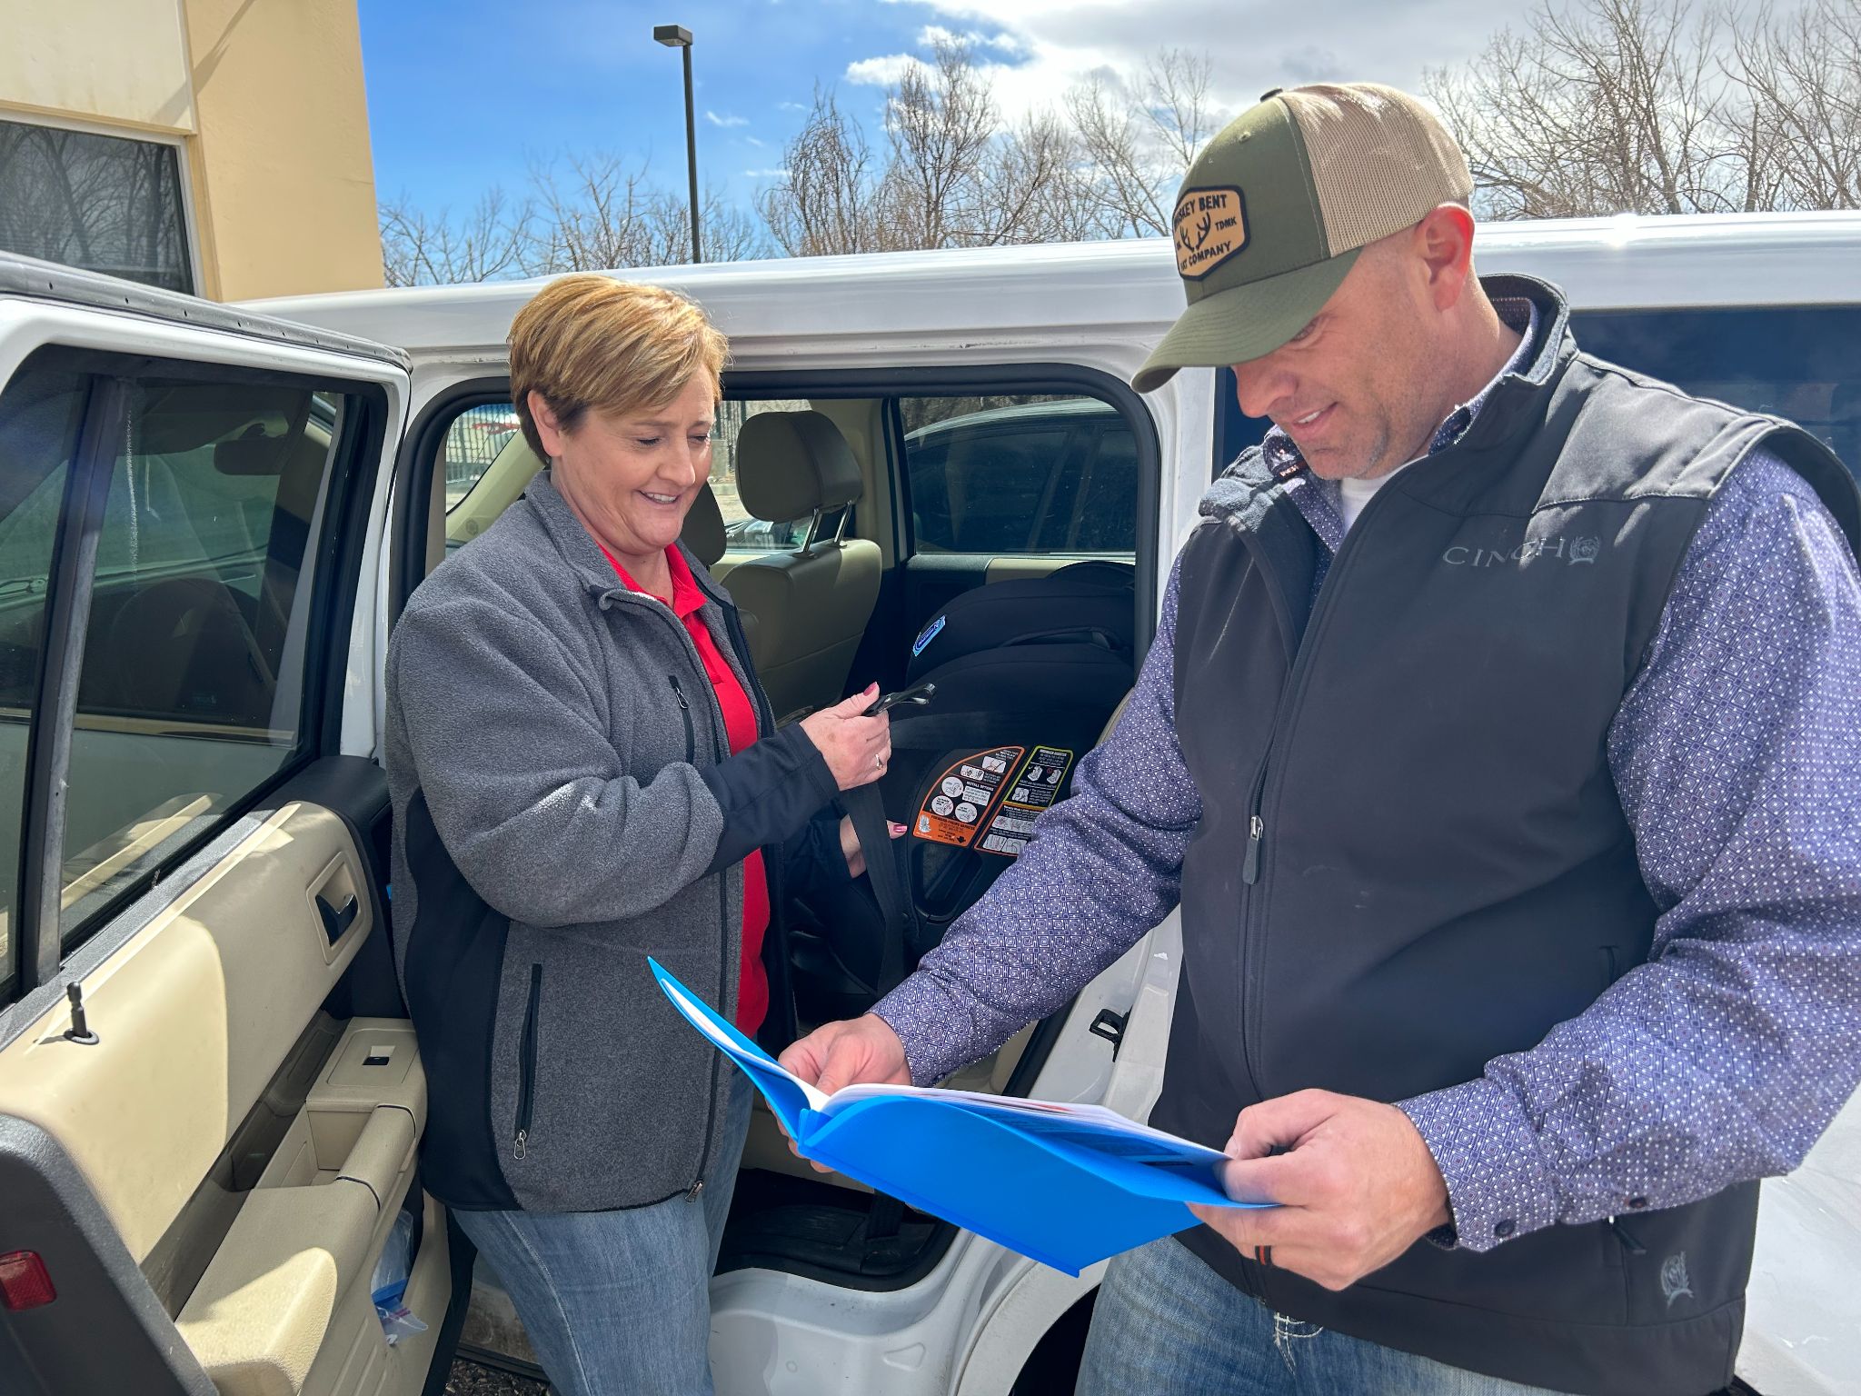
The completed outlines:
[[[880,1085],[823,1096],[648,962],[804,1156],[1068,1275],[1198,1225],[1187,1202],[1271,1206],[1228,1197],[1213,1148],[1098,1106]]]

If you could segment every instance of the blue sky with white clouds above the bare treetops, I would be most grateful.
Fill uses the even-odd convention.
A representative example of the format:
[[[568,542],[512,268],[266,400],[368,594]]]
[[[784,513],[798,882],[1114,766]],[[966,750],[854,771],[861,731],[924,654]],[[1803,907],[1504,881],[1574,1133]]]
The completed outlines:
[[[679,54],[653,43],[655,22],[696,35],[700,179],[748,208],[817,82],[877,143],[880,82],[936,30],[981,45],[1007,110],[1057,104],[1081,76],[1131,73],[1171,45],[1206,50],[1219,95],[1245,106],[1314,78],[1414,86],[1424,63],[1468,58],[1522,13],[1522,0],[359,0],[376,188],[428,210],[462,210],[491,184],[519,195],[532,156],[573,153],[649,160],[655,182],[683,188]]]

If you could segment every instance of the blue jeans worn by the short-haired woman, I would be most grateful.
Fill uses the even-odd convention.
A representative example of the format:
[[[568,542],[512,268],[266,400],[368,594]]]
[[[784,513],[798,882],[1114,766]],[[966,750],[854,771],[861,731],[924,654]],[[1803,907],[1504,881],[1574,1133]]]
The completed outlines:
[[[711,1271],[750,1128],[750,1080],[724,1111],[698,1197],[623,1212],[458,1212],[558,1396],[711,1396]],[[625,1167],[616,1160],[614,1167]]]

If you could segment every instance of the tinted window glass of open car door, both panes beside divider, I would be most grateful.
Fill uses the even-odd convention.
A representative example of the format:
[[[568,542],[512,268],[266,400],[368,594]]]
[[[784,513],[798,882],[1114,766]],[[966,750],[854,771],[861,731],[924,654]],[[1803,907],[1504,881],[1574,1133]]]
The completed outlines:
[[[52,540],[61,510],[74,508],[63,477],[80,409],[69,404],[87,389],[87,376],[61,378],[58,389],[58,376],[24,372],[0,398],[9,456],[0,819],[13,825],[13,847]],[[344,421],[357,409],[348,395],[298,383],[154,374],[125,383],[65,780],[65,940],[300,754],[313,540]],[[69,432],[60,437],[56,426]],[[17,867],[6,879],[17,916]]]

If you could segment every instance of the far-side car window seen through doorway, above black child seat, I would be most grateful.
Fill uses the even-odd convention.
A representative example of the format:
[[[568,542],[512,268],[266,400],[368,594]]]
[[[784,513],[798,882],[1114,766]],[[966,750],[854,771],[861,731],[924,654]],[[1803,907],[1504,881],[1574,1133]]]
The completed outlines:
[[[1137,441],[1089,396],[899,398],[919,553],[1137,547]]]

